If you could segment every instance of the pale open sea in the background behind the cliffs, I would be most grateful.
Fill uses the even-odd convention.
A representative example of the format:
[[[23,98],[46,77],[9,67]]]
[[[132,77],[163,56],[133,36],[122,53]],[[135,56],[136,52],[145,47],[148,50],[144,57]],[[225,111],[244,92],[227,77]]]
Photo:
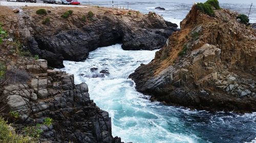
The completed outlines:
[[[206,1],[206,0],[205,0]],[[205,2],[204,0],[114,0],[115,8],[127,8],[139,10],[142,13],[154,11],[164,17],[165,20],[180,24],[191,9],[194,2]],[[111,0],[81,0],[83,4],[112,7]],[[255,0],[219,0],[220,6],[225,9],[237,11],[248,15],[251,3],[254,5],[251,8],[249,19],[251,23],[256,23],[256,1]],[[129,4],[128,4],[129,3]],[[166,10],[158,10],[156,7],[163,7]]]

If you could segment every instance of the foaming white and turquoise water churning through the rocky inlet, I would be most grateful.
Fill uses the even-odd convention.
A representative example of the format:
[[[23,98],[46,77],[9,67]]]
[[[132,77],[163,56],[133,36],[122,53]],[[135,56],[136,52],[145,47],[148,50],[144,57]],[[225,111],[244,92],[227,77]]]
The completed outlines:
[[[148,96],[138,93],[135,83],[127,77],[141,63],[149,63],[155,52],[124,51],[116,44],[90,52],[86,61],[65,61],[61,70],[74,74],[75,83],[88,84],[91,99],[110,113],[113,136],[125,142],[256,141],[256,112],[239,115],[189,110],[151,102]],[[110,74],[102,77],[101,70],[109,70]]]

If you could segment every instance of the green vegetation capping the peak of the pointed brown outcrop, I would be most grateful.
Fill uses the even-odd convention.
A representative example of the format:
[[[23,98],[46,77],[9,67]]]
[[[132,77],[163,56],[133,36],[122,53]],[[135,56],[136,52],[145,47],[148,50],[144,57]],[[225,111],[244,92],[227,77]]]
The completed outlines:
[[[215,16],[214,9],[221,9],[218,0],[208,0],[205,3],[198,3],[196,8],[209,16]]]

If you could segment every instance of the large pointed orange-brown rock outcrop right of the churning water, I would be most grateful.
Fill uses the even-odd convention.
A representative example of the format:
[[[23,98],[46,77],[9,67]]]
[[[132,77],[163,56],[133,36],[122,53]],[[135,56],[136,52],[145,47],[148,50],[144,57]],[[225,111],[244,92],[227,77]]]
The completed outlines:
[[[256,32],[237,13],[195,6],[155,59],[130,75],[152,100],[197,109],[256,110]]]

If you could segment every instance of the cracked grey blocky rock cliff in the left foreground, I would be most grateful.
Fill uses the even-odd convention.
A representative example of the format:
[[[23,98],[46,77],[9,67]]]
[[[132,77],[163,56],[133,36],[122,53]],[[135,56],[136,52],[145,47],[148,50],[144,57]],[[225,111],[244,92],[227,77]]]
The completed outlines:
[[[109,113],[90,99],[86,83],[74,84],[74,76],[48,70],[46,60],[34,60],[13,53],[11,42],[1,45],[0,62],[7,67],[7,80],[0,86],[0,107],[16,130],[42,124],[52,118],[51,126],[43,125],[40,141],[48,142],[115,142]],[[4,49],[4,50],[3,50]],[[10,77],[10,73],[13,73]]]

